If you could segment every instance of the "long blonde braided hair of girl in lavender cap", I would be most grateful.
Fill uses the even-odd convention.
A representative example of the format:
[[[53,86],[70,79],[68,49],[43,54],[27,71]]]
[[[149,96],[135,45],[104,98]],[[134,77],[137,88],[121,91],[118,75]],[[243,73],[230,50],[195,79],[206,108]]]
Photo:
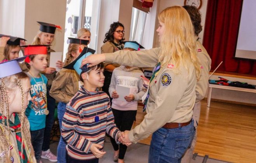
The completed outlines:
[[[20,89],[22,97],[22,105],[21,105],[21,113],[19,113],[19,119],[21,121],[21,137],[22,142],[21,144],[25,144],[25,148],[28,148],[26,155],[28,158],[28,162],[33,162],[33,159],[30,157],[33,156],[33,150],[31,145],[31,137],[30,132],[28,130],[28,127],[25,124],[24,119],[25,117],[25,109],[24,108],[24,90],[21,85],[21,80],[29,80],[28,75],[26,75],[24,72],[17,73],[15,75],[7,76],[5,78],[0,78],[0,113],[2,116],[6,116],[7,118],[7,126],[5,126],[4,119],[2,118],[2,128],[0,128],[0,146],[2,148],[2,151],[4,151],[6,154],[4,156],[4,162],[11,163],[10,160],[10,126],[9,126],[9,94],[12,93],[14,90],[17,89],[17,87]],[[15,92],[13,92],[15,93]],[[14,149],[15,150],[15,149]],[[30,151],[29,151],[30,150]],[[19,151],[16,151],[17,153]],[[31,152],[29,154],[29,152]],[[21,155],[23,154],[23,150],[21,150]],[[18,154],[19,155],[19,154]]]

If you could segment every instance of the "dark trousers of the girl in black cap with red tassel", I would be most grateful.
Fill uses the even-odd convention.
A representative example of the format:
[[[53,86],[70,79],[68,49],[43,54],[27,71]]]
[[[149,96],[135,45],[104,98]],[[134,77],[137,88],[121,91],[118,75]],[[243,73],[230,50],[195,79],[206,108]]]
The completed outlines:
[[[44,143],[42,151],[50,149],[51,131],[54,123],[55,99],[49,95],[50,88],[47,88],[47,109],[49,114],[46,116],[45,130],[44,130]]]

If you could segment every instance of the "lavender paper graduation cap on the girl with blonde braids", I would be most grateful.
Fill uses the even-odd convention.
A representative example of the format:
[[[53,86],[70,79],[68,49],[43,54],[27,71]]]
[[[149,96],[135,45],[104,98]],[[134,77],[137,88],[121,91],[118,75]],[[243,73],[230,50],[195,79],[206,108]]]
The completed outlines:
[[[18,62],[23,61],[25,57],[26,56],[23,56],[20,58],[16,58],[10,61],[0,63],[0,69],[1,69],[0,78],[4,78],[6,76],[10,76],[10,75],[14,75],[22,72]]]

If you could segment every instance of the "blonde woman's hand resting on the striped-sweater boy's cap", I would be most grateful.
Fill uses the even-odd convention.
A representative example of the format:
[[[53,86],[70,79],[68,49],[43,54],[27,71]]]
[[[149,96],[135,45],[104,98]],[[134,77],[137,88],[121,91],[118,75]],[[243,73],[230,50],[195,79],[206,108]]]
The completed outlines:
[[[85,64],[89,64],[88,67],[95,66],[106,60],[105,54],[93,54],[82,60],[81,68]]]

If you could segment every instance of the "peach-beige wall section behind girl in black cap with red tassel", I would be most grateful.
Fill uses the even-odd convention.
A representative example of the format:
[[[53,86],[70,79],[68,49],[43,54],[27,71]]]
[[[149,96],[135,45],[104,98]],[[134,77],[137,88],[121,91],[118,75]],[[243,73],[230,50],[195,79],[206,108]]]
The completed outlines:
[[[56,29],[56,43],[51,48],[63,52],[66,0],[26,0],[24,38],[31,44],[39,31],[37,21],[52,23],[63,29]]]

